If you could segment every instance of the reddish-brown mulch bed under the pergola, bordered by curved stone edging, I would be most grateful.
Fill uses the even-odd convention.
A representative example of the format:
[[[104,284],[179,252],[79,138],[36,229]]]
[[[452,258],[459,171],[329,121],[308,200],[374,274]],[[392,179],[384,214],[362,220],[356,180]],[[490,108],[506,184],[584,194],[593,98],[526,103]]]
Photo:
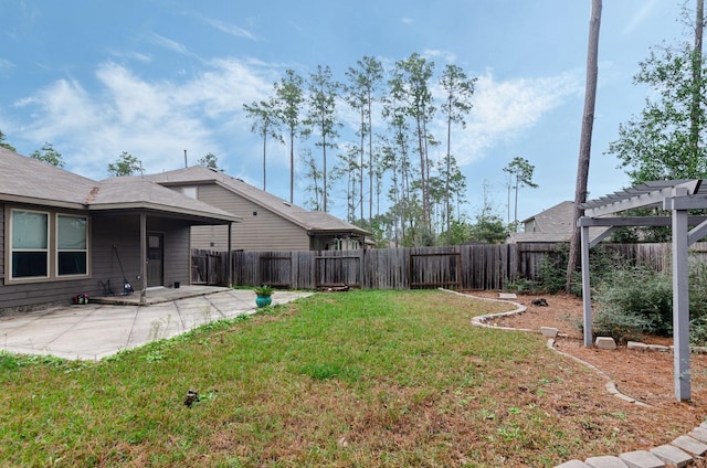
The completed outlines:
[[[468,292],[476,297],[498,298],[498,292]],[[532,301],[546,299],[548,306],[534,306]],[[599,368],[616,384],[619,391],[641,402],[667,411],[672,417],[682,417],[685,412],[707,416],[707,354],[690,355],[692,401],[677,403],[675,397],[673,353],[659,351],[629,350],[619,345],[616,350],[584,348],[579,325],[582,320],[582,301],[574,296],[518,296],[515,302],[527,307],[527,311],[495,319],[492,325],[516,329],[540,330],[540,327],[557,328],[560,337],[555,348]],[[539,339],[544,339],[538,333]],[[672,345],[672,338],[644,336],[645,343]]]

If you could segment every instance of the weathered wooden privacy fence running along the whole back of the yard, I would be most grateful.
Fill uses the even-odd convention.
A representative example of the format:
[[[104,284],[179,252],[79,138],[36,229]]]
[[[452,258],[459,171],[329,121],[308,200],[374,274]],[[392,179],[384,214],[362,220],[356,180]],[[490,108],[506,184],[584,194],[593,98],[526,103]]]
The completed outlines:
[[[671,269],[671,244],[602,244],[634,265]],[[519,278],[538,279],[542,267],[566,268],[567,244],[461,245],[368,251],[233,252],[236,286],[271,285],[318,289],[347,285],[363,289],[504,289]],[[707,260],[707,243],[692,247]],[[599,251],[592,249],[592,255]],[[228,284],[228,253],[193,251],[192,283]]]

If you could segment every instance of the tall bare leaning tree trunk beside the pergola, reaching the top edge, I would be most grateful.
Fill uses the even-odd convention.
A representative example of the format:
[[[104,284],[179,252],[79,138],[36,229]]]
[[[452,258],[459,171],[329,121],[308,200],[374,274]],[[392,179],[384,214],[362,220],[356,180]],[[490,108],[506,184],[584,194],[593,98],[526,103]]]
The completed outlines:
[[[599,74],[599,29],[601,26],[601,2],[592,0],[589,19],[589,45],[587,49],[587,88],[584,89],[584,113],[582,116],[582,134],[579,142],[579,161],[577,164],[577,187],[574,190],[574,216],[572,219],[572,240],[567,264],[567,281],[564,289],[569,292],[572,276],[579,263],[580,228],[577,225],[584,211],[580,204],[587,201],[587,181],[589,179],[589,159],[592,148],[592,129],[594,126],[594,105],[597,103],[597,76]]]

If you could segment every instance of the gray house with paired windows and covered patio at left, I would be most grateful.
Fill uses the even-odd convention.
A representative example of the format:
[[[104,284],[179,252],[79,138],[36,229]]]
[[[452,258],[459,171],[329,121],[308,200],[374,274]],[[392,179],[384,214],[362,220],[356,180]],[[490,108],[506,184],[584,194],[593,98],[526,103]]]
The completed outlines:
[[[189,284],[192,226],[235,216],[141,178],[94,181],[0,147],[0,311]]]

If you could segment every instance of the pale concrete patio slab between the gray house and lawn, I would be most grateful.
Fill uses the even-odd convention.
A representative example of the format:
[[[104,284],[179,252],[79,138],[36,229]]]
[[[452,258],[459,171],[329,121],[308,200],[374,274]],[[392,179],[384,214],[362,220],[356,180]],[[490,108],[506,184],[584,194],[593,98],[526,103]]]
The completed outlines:
[[[309,295],[275,291],[273,305]],[[0,317],[0,349],[18,354],[99,360],[214,320],[255,312],[255,294],[250,289],[160,288],[148,290],[146,305],[130,304],[139,300],[139,292],[101,300],[110,304],[98,304],[99,300]]]

